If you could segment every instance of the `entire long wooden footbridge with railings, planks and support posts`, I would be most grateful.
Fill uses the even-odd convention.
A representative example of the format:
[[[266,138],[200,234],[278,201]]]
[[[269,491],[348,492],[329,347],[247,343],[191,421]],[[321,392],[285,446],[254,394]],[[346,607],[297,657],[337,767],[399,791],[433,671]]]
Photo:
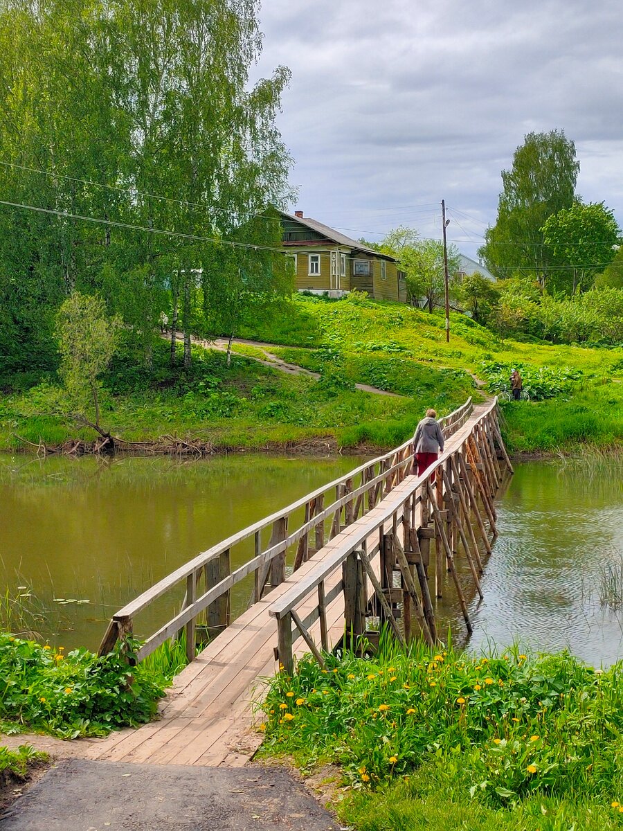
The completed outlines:
[[[444,454],[425,476],[410,475],[407,441],[199,554],[117,612],[101,653],[138,629],[146,608],[185,590],[181,609],[147,638],[138,660],[185,632],[190,662],[159,721],[92,741],[87,755],[243,765],[261,743],[252,730],[261,679],[280,666],[290,671],[297,654],[322,662],[323,652],[344,642],[374,642],[379,622],[400,641],[434,643],[432,596],[446,593],[458,598],[471,632],[469,600],[482,597],[483,561],[496,534],[493,496],[513,468],[495,400],[473,406],[470,399],[441,423]],[[252,556],[232,571],[232,551],[245,545]],[[463,558],[468,582],[456,568]],[[233,591],[239,597],[245,588],[248,608],[234,617]],[[195,656],[206,628],[218,637]]]

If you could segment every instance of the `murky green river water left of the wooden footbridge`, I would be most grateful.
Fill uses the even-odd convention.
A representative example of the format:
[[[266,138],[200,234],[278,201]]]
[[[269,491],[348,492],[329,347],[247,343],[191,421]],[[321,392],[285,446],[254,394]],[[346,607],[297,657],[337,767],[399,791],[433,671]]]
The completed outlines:
[[[0,593],[17,596],[39,637],[95,648],[110,615],[174,568],[361,462],[0,455]],[[251,557],[253,539],[233,549],[233,568]],[[234,613],[252,588],[236,588]],[[180,601],[162,598],[135,632],[155,632]]]

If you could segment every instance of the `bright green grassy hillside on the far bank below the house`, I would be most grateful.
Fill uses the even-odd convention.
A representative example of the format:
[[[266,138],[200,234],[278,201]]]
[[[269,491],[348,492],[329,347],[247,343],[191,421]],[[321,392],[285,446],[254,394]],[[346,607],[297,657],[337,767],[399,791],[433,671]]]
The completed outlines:
[[[532,401],[503,408],[512,450],[623,443],[621,349],[503,342],[463,315],[452,315],[451,332],[447,344],[441,315],[357,293],[340,301],[297,296],[241,335],[276,344],[271,352],[320,379],[262,366],[253,358],[263,353],[243,345],[234,347],[229,369],[222,352],[194,347],[184,376],[170,370],[163,342],[151,371],[129,352],[115,358],[103,378],[102,422],[113,435],[136,441],[174,435],[215,448],[317,440],[389,448],[405,440],[427,407],[443,415],[469,395],[478,400],[475,379],[496,391],[516,366]],[[4,381],[0,447],[92,439],[91,430],[62,416],[56,376],[37,381],[30,387],[32,379]],[[359,391],[356,383],[395,396]]]

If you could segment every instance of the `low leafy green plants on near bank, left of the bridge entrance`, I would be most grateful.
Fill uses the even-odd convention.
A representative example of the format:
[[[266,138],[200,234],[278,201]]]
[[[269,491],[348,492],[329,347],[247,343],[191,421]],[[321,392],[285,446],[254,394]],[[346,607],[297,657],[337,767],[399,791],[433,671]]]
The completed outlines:
[[[149,721],[166,679],[141,665],[130,666],[136,646],[132,641],[118,644],[101,657],[83,648],[65,656],[61,648],[1,634],[3,729],[27,728],[73,739]]]

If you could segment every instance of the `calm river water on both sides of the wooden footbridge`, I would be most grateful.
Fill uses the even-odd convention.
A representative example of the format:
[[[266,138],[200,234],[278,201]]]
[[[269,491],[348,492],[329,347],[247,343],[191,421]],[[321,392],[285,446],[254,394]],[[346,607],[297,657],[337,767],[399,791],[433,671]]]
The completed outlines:
[[[0,456],[0,588],[32,593],[23,602],[51,622],[51,629],[39,623],[43,637],[96,647],[110,614],[155,580],[359,464],[355,457]],[[470,647],[519,640],[542,650],[568,647],[596,664],[623,657],[621,462],[517,465],[498,498],[498,530],[484,600],[470,603]],[[252,556],[250,546],[235,565]],[[619,575],[617,591],[606,597],[611,573]],[[238,589],[234,609],[251,586]],[[439,612],[456,620],[444,604]]]

